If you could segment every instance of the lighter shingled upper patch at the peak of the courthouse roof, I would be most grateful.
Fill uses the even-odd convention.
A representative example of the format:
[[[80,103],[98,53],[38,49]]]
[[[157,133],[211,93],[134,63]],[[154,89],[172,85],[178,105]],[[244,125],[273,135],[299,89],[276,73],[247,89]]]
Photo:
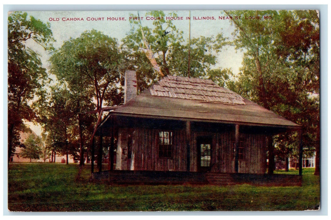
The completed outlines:
[[[245,105],[243,97],[210,79],[166,76],[150,88],[152,96]]]

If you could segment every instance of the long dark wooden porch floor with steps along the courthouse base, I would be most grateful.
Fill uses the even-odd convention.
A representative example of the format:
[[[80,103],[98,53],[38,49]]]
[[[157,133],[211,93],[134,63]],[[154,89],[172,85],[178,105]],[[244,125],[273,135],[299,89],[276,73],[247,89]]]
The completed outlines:
[[[113,170],[93,173],[95,180],[108,180],[114,184],[193,184],[255,186],[301,186],[302,176],[286,174],[214,173],[181,171]]]

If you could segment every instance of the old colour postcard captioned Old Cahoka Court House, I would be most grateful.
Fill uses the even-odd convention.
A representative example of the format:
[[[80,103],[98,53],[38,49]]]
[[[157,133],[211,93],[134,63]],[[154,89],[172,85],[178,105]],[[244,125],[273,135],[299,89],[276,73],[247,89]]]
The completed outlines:
[[[318,210],[319,13],[8,13],[9,211]]]

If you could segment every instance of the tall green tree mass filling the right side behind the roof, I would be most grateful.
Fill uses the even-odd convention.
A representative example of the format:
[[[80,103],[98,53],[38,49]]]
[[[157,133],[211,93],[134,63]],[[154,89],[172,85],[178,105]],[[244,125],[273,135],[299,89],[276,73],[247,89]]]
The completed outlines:
[[[229,12],[225,12],[230,15]],[[319,158],[319,25],[316,11],[240,11],[234,45],[245,51],[233,90],[303,127]],[[271,16],[272,19],[264,19]],[[295,155],[296,134],[278,135],[279,156]]]

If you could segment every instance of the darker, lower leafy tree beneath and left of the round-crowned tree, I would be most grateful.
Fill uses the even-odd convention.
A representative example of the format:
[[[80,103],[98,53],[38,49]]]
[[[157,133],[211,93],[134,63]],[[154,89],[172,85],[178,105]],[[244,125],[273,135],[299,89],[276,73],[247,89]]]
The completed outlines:
[[[69,90],[60,82],[54,85],[52,81],[48,90],[46,96],[34,103],[46,132],[48,146],[53,154],[58,152],[66,155],[67,164],[69,154],[76,156],[81,151],[83,165],[83,129],[93,121],[92,115],[85,114],[86,111],[93,110],[91,100],[84,99],[84,91]]]

